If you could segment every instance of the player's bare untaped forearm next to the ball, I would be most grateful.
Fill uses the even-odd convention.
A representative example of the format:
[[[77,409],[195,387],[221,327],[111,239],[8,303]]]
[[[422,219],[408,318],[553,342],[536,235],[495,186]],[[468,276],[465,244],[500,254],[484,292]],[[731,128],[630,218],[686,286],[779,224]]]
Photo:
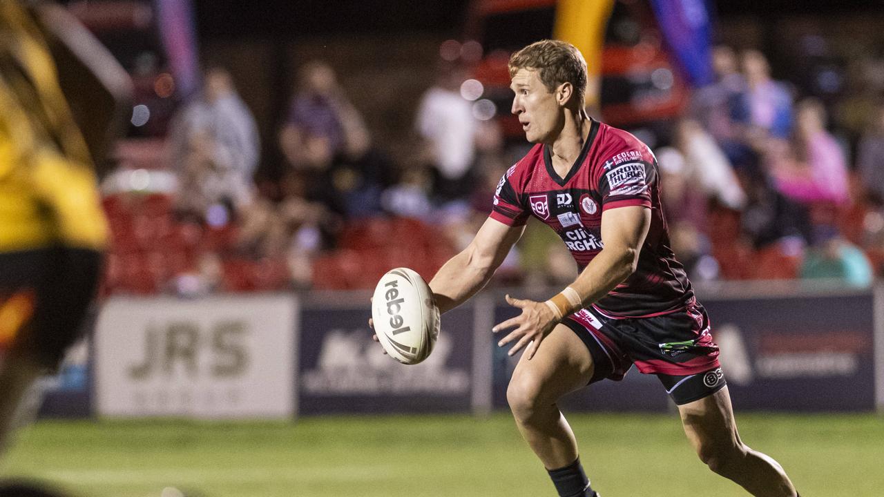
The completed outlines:
[[[439,312],[466,302],[492,279],[498,265],[492,257],[481,256],[472,247],[449,259],[430,281]]]

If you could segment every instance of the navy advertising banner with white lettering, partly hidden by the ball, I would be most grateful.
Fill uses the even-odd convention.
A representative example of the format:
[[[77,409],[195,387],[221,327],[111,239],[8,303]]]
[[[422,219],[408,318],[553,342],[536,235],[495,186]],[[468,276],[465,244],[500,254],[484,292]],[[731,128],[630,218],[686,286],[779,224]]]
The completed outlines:
[[[302,310],[299,414],[469,411],[472,308],[447,312],[430,357],[405,365],[371,340],[367,301],[353,308]]]

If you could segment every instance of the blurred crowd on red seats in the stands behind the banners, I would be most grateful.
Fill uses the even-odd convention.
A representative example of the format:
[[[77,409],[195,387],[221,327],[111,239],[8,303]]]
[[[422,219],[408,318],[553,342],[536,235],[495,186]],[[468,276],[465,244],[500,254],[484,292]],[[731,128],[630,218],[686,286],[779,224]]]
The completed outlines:
[[[851,128],[843,113],[857,92],[824,101],[774,80],[757,50],[717,47],[713,66],[717,79],[695,89],[653,147],[672,245],[691,279],[871,284],[884,269],[884,104],[860,106]],[[859,93],[884,95],[884,77],[866,76]],[[331,66],[306,63],[278,135],[262,137],[286,164],[256,181],[255,119],[230,74],[208,69],[169,129],[177,187],[105,198],[104,294],[370,288],[396,266],[430,277],[476,233],[525,150],[474,115],[466,78],[464,67],[439,65],[415,111],[414,153],[397,164]],[[495,281],[568,282],[575,264],[560,245],[531,224]]]

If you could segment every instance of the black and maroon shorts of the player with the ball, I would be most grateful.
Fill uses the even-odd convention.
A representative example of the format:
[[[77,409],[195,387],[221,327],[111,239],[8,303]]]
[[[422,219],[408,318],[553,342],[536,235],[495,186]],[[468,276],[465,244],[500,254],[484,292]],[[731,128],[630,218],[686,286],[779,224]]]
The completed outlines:
[[[606,317],[584,309],[562,320],[590,350],[594,372],[590,383],[621,380],[632,364],[653,374],[676,404],[697,401],[726,385],[702,305],[653,317]]]

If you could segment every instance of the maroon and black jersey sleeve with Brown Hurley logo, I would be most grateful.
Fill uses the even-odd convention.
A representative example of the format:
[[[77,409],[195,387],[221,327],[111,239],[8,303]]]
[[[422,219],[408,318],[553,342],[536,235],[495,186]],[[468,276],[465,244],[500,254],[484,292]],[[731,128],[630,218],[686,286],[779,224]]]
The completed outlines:
[[[597,178],[603,211],[630,205],[651,207],[651,188],[657,181],[656,159],[641,141],[624,141],[608,152]]]

